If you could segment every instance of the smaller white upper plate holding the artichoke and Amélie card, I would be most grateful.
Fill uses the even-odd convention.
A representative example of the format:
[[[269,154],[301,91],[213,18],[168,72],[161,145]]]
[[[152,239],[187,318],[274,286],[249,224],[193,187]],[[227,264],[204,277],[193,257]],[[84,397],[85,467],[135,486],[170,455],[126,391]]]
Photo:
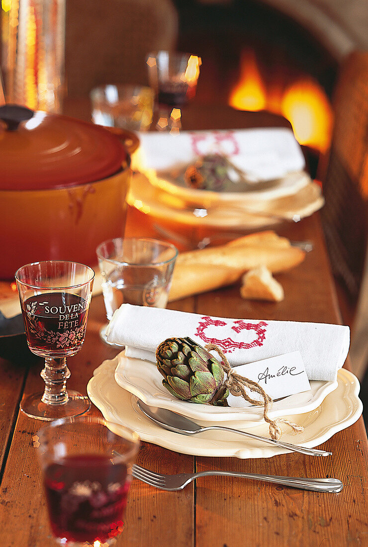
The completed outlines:
[[[225,408],[223,406],[187,403],[173,397],[163,387],[162,376],[154,363],[125,357],[124,351],[113,359],[113,363],[115,364],[116,383],[149,406],[173,410],[178,414],[202,422],[227,422],[231,420],[241,421],[247,427],[254,427],[263,421],[263,408],[251,405],[242,397],[237,398],[239,400],[238,406]],[[289,395],[289,397],[274,401],[268,415],[271,418],[276,418],[283,416],[285,413],[292,415],[314,410],[322,403],[328,393],[337,388],[337,381],[312,380],[311,387],[310,391]]]

